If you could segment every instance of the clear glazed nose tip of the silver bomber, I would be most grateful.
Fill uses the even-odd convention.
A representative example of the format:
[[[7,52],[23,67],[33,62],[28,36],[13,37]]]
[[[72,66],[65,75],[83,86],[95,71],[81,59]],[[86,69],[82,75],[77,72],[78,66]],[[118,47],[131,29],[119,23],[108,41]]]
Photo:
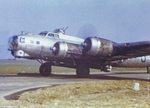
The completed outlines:
[[[17,50],[18,46],[18,36],[10,37],[8,40],[9,47],[8,50],[14,51]]]

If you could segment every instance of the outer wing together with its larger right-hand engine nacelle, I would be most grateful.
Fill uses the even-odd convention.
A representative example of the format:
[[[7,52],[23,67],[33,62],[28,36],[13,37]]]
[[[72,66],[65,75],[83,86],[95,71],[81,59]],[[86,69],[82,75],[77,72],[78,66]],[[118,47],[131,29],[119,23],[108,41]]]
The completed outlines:
[[[119,44],[103,38],[89,37],[82,46],[86,54],[105,60],[150,55],[150,41]]]

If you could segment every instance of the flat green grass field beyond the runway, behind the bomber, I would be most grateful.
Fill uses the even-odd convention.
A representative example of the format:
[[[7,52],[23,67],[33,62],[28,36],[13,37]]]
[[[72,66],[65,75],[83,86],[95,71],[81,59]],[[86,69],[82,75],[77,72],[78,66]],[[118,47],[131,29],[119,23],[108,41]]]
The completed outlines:
[[[40,63],[35,60],[0,60],[0,74],[39,73]],[[91,72],[100,70],[91,69]],[[113,68],[113,71],[146,71],[145,68]],[[75,69],[52,67],[52,72],[75,72]]]

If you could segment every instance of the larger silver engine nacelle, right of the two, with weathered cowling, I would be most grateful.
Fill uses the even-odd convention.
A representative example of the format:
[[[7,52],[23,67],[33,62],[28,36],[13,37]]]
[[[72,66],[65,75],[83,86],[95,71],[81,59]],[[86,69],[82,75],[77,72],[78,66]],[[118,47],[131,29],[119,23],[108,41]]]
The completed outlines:
[[[113,42],[102,38],[89,37],[82,46],[89,55],[111,56],[113,52]]]

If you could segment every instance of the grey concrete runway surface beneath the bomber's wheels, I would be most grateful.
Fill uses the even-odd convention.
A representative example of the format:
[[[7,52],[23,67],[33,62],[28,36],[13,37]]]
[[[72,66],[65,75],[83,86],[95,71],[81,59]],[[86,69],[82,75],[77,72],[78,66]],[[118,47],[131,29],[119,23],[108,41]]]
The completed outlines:
[[[8,98],[13,93],[60,84],[103,81],[103,80],[147,80],[150,74],[146,72],[94,72],[89,78],[77,78],[75,73],[54,73],[49,77],[39,74],[22,73],[17,75],[0,75],[0,97]]]

